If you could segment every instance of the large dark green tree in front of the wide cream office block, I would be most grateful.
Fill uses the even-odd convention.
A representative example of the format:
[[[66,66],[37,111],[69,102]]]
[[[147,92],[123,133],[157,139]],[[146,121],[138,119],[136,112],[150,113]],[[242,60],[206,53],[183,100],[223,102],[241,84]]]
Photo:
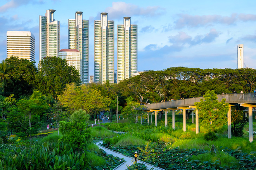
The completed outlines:
[[[36,62],[18,57],[7,58],[5,62],[10,66],[8,74],[14,83],[13,86],[5,88],[5,96],[14,94],[14,97],[19,99],[31,95],[35,87],[35,75],[38,72]]]

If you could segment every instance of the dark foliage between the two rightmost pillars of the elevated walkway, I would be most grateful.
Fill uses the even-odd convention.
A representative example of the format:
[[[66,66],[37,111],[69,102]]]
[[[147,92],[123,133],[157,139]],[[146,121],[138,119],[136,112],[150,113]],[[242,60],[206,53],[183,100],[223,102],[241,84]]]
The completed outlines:
[[[231,111],[231,133],[232,136],[242,137],[244,126],[246,126],[247,118],[243,110],[232,109]]]

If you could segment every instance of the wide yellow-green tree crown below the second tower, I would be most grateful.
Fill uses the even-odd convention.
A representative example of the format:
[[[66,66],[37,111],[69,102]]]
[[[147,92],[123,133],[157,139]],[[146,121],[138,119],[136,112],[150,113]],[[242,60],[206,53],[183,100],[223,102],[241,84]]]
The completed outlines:
[[[67,85],[62,95],[58,96],[64,107],[71,110],[83,109],[87,114],[93,115],[100,110],[109,110],[110,99],[100,94],[97,89],[88,85]]]

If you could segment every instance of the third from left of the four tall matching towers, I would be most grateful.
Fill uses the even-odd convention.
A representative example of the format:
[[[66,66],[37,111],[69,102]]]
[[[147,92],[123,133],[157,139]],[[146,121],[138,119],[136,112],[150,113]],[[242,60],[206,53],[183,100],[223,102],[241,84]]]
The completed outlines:
[[[114,21],[100,13],[94,21],[94,82],[114,83]]]

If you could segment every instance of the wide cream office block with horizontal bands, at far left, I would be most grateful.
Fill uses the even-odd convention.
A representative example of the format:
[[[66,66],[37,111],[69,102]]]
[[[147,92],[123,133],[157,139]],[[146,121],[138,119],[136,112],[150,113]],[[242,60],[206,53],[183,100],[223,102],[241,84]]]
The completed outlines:
[[[7,31],[7,58],[35,61],[35,36],[30,31]]]

